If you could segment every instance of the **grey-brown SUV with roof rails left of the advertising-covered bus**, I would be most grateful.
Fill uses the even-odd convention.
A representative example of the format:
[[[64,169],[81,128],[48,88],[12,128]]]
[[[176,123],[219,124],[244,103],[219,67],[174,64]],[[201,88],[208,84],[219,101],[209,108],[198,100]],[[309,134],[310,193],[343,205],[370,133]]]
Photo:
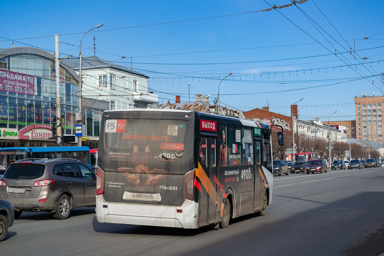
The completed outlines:
[[[49,211],[55,219],[73,208],[96,206],[96,176],[75,159],[24,159],[9,165],[0,179],[0,198],[22,211]]]

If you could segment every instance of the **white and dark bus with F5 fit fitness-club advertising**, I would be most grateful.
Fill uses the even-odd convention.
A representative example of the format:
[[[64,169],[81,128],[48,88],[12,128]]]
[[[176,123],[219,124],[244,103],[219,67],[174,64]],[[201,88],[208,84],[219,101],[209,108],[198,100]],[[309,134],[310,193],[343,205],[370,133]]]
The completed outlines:
[[[99,222],[199,228],[264,215],[272,198],[266,124],[175,109],[105,111]]]

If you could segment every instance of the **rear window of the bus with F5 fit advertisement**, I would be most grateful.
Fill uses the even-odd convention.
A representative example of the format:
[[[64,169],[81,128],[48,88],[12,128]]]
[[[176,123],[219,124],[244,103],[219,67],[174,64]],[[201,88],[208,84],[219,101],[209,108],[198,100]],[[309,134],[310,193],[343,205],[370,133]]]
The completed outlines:
[[[140,167],[147,173],[175,173],[184,163],[188,152],[185,145],[188,121],[124,119],[106,120],[104,124],[104,150],[111,162],[136,172]],[[113,123],[115,122],[115,123]],[[100,152],[99,152],[100,154]],[[103,161],[103,168],[113,165]],[[178,167],[179,165],[179,167]],[[116,167],[115,167],[116,168]],[[119,168],[119,167],[117,167]],[[116,171],[116,170],[114,170]]]

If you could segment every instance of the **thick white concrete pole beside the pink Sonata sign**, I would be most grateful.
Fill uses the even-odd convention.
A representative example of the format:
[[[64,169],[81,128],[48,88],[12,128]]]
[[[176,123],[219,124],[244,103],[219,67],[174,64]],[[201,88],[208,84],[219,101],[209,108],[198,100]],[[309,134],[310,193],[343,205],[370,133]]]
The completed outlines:
[[[60,61],[59,61],[59,35],[55,35],[55,74],[56,74],[56,144],[61,145],[63,137],[61,134],[61,102],[60,102]],[[52,124],[53,125],[53,124]]]

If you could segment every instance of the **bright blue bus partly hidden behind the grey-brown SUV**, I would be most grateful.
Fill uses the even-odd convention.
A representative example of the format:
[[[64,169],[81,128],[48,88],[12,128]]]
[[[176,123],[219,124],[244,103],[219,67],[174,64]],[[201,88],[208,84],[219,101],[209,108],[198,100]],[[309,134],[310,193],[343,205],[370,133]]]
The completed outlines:
[[[0,149],[0,174],[10,163],[26,158],[73,158],[91,168],[89,147],[5,147]]]

